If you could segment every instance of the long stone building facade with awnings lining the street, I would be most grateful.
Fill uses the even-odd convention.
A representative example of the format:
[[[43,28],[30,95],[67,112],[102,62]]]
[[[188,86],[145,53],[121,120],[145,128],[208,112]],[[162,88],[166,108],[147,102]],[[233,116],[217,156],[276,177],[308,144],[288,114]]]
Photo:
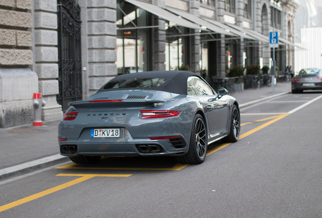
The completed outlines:
[[[0,128],[31,124],[34,92],[50,121],[118,74],[224,77],[231,66],[269,65],[270,31],[283,69],[294,60],[296,9],[293,0],[0,0]]]

